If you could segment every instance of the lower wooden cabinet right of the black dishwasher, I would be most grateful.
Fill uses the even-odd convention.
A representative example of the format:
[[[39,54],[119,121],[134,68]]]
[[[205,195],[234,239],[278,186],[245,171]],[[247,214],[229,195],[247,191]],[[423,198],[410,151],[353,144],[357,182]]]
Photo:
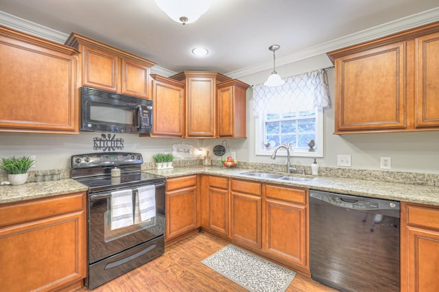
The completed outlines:
[[[439,207],[401,202],[401,291],[439,291]]]

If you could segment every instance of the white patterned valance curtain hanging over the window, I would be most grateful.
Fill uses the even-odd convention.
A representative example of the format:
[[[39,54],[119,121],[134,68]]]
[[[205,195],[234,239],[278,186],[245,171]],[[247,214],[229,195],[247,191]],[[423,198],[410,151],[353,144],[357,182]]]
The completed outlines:
[[[323,69],[285,78],[282,86],[257,84],[253,88],[254,117],[264,113],[286,113],[296,110],[329,108],[327,73]]]

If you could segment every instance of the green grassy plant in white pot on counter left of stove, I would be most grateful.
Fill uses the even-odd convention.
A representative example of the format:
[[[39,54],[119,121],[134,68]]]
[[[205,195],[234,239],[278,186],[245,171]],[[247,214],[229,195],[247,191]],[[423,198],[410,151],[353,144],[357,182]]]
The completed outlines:
[[[0,169],[8,173],[8,180],[13,185],[24,184],[27,180],[29,168],[34,165],[35,160],[30,156],[22,156],[16,158],[15,156],[8,158],[1,158]]]

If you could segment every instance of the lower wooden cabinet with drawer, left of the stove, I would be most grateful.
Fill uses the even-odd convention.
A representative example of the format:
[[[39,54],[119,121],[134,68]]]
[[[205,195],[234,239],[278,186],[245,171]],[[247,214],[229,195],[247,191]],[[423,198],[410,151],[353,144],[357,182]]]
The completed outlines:
[[[69,291],[85,277],[85,192],[0,206],[2,291]]]

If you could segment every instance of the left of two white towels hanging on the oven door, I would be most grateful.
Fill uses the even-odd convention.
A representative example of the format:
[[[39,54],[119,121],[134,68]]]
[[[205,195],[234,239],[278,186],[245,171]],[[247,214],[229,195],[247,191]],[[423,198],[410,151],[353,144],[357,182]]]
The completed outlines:
[[[131,189],[111,192],[111,230],[131,226],[132,210]]]

